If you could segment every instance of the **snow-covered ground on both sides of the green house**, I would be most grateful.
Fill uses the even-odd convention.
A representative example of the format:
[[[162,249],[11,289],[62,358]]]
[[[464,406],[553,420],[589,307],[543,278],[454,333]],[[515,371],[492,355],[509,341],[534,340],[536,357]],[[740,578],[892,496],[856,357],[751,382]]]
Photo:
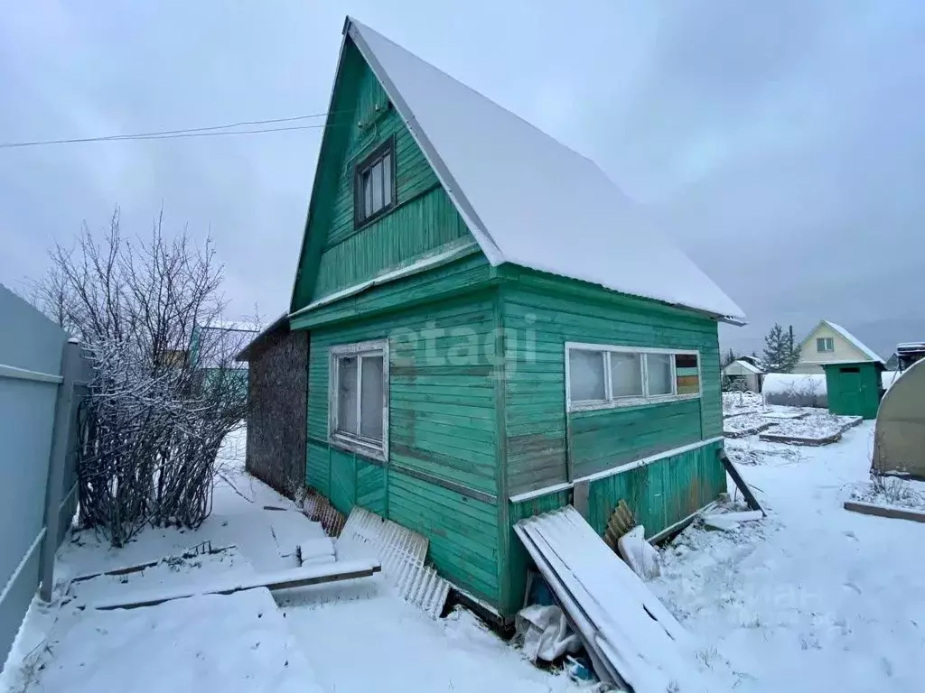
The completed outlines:
[[[921,689],[925,571],[918,547],[925,525],[842,507],[858,494],[875,497],[871,436],[865,422],[819,448],[754,435],[727,441],[769,517],[731,531],[686,529],[663,552],[661,577],[649,583],[697,641],[711,691]],[[228,441],[232,460],[242,451],[242,436]],[[32,608],[0,690],[579,689],[524,661],[469,612],[430,620],[381,574],[278,592],[277,602],[249,590],[135,610],[75,608],[119,591],[295,565],[295,544],[320,528],[294,510],[265,510],[293,506],[239,465],[223,474],[203,529],[151,529],[118,551],[87,532],[67,542],[57,573],[66,579],[172,557],[140,573],[73,583],[65,599],[66,583],[58,585],[56,603]],[[903,483],[884,493],[912,498],[925,489]],[[203,553],[203,541],[226,550]],[[197,546],[198,554],[182,556]]]

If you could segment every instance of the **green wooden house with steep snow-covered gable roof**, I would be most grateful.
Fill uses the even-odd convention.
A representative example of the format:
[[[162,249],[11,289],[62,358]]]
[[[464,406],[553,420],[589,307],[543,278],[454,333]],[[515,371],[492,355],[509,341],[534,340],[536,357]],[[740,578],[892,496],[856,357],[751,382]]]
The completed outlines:
[[[596,164],[348,18],[292,292],[306,482],[430,540],[501,617],[522,517],[725,490],[717,323],[742,311]]]

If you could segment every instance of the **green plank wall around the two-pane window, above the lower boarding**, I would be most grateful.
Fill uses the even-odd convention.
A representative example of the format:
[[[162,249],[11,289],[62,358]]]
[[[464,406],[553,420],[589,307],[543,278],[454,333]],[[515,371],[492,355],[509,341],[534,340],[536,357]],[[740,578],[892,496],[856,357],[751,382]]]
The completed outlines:
[[[327,439],[328,347],[388,337],[389,461],[496,492],[494,310],[483,293],[313,330],[309,437]]]

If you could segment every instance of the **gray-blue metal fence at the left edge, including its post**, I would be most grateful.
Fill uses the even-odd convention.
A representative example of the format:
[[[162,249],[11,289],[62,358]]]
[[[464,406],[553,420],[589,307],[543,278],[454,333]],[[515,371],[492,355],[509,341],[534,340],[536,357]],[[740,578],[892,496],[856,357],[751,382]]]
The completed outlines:
[[[51,599],[55,552],[77,509],[80,345],[0,286],[0,665],[35,590]]]

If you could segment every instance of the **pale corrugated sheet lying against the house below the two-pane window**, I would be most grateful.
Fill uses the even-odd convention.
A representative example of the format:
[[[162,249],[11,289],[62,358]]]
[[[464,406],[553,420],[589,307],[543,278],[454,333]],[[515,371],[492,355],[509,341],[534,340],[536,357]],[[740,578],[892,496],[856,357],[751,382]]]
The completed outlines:
[[[363,544],[376,552],[382,572],[406,602],[438,618],[450,594],[450,583],[425,564],[424,536],[355,507],[340,533],[338,550],[351,551]]]

